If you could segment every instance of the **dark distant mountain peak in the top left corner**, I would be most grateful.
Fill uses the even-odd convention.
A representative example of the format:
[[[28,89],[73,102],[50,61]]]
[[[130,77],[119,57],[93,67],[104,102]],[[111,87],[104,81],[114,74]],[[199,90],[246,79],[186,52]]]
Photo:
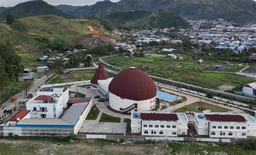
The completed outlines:
[[[5,19],[6,15],[13,13],[16,19],[29,17],[29,16],[38,16],[38,15],[56,15],[65,18],[72,18],[73,16],[67,15],[62,10],[55,8],[46,2],[43,1],[29,1],[24,3],[19,3],[12,8],[6,9],[0,13],[0,19]]]

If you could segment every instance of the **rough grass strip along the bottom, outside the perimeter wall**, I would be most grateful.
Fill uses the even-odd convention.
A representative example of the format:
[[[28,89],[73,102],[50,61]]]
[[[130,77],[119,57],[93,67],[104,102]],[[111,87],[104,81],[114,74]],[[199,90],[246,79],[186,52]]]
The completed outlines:
[[[138,141],[121,144],[115,140],[72,140],[51,137],[0,139],[0,154],[255,154],[240,144],[203,142]],[[19,140],[18,140],[19,139]],[[58,139],[58,140],[55,140]]]

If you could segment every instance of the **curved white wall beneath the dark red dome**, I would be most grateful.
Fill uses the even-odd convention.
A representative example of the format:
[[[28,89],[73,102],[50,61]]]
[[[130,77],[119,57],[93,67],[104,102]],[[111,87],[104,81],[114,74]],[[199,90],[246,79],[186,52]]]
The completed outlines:
[[[123,99],[117,95],[109,93],[109,105],[112,109],[120,111],[120,108],[127,108],[130,107],[134,103],[138,103],[138,111],[142,110],[152,110],[156,106],[155,98],[153,97],[149,100],[143,100],[143,101],[134,101],[129,99]]]

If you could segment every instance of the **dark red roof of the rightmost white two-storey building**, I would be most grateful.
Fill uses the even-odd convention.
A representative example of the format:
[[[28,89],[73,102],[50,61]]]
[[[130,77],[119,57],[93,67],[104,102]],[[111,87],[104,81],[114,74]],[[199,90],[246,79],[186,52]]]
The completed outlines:
[[[219,122],[246,122],[245,117],[240,115],[205,115],[209,121]]]

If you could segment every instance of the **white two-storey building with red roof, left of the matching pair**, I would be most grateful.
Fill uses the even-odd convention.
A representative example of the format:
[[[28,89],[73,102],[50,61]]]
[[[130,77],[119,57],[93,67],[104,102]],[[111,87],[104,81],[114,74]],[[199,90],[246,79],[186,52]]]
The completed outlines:
[[[177,137],[187,135],[188,119],[185,113],[171,111],[142,111],[132,112],[132,133],[143,136]]]

